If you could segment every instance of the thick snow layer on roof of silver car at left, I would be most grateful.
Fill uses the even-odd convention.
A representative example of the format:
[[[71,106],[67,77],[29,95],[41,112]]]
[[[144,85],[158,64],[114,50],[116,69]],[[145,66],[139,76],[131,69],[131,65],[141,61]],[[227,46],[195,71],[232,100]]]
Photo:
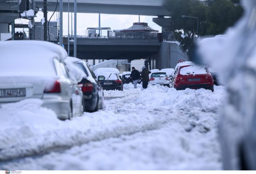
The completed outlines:
[[[16,57],[27,60],[27,58],[57,58],[63,62],[68,56],[66,50],[57,44],[36,40],[10,40],[0,42],[0,53],[2,58]]]

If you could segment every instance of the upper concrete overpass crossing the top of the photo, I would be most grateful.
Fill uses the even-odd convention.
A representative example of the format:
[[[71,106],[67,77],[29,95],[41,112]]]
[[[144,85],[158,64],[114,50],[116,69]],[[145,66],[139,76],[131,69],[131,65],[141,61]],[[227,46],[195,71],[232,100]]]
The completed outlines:
[[[54,11],[56,0],[47,0],[48,11]],[[145,16],[168,16],[164,7],[165,0],[77,0],[77,12],[102,14],[134,14]],[[36,6],[43,7],[42,0],[36,0]],[[57,11],[59,8],[57,8]],[[63,10],[68,11],[68,0],[63,0]],[[70,12],[74,3],[70,0]]]

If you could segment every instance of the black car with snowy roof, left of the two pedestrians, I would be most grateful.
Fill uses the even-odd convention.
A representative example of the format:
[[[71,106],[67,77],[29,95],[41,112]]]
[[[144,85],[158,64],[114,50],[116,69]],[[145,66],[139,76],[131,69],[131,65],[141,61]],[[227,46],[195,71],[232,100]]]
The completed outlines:
[[[97,76],[104,90],[123,90],[123,83],[118,74],[102,72]]]

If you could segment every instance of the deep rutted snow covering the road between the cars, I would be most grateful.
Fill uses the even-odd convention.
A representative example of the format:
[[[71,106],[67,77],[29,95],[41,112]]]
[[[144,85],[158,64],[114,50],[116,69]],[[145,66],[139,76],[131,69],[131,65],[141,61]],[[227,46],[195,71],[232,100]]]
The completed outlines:
[[[106,107],[60,121],[40,100],[0,108],[0,170],[220,170],[215,91],[104,91]]]

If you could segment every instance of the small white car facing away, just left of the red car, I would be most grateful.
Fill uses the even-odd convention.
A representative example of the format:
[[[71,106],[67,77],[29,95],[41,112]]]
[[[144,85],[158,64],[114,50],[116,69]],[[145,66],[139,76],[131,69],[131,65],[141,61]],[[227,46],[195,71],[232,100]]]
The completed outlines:
[[[150,70],[149,74],[149,84],[156,85],[160,84],[163,86],[168,86],[170,88],[171,78],[166,74],[166,72],[160,71],[158,69]]]

